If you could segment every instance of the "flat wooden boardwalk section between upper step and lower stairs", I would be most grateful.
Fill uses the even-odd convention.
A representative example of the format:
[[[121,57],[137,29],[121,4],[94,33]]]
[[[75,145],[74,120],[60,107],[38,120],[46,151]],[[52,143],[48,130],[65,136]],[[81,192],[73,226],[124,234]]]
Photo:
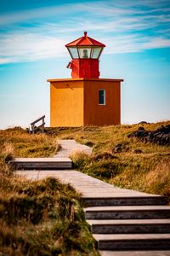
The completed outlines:
[[[138,192],[135,190],[130,189],[120,189],[117,187],[114,187],[113,185],[109,183],[105,183],[97,178],[88,176],[87,174],[84,174],[82,172],[77,172],[74,170],[22,170],[18,171],[17,174],[20,174],[22,176],[25,176],[26,178],[37,180],[42,179],[44,177],[56,177],[59,178],[59,180],[62,183],[70,183],[73,188],[77,190],[82,195],[82,198],[84,199],[94,199],[94,201],[97,201],[98,198],[103,198],[104,200],[107,199],[114,199],[115,204],[116,200],[120,201],[121,199],[134,199],[134,202],[137,198],[144,199],[145,200],[153,200],[153,201],[162,201],[163,203],[163,197],[160,195],[149,195],[143,192]],[[90,204],[90,203],[89,203]],[[149,203],[150,204],[150,203]],[[153,203],[151,203],[153,204]],[[93,204],[94,205],[94,204]]]

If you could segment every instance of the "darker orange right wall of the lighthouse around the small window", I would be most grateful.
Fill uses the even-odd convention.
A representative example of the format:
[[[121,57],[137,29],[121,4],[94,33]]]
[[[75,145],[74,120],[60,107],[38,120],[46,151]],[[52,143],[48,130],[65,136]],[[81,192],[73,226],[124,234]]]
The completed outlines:
[[[84,83],[84,125],[119,125],[120,82],[105,79]],[[99,105],[99,89],[105,90],[105,105]]]

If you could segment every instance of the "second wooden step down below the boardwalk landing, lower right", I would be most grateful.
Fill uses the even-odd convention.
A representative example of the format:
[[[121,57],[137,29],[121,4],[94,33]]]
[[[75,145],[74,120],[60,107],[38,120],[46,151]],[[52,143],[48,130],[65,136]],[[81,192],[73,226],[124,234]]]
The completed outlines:
[[[87,219],[94,234],[170,233],[167,219]]]

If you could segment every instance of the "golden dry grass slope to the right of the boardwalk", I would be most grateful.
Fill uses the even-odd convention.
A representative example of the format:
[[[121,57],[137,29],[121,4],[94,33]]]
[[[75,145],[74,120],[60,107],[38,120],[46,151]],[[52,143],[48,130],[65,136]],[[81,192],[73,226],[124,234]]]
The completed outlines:
[[[60,137],[72,137],[80,143],[93,145],[92,156],[82,153],[72,155],[75,167],[81,172],[122,188],[167,195],[170,198],[170,147],[127,138],[139,126],[153,131],[169,124],[170,121],[85,127],[79,131],[69,131],[67,136],[61,132]],[[121,149],[116,152],[115,148],[120,144]]]

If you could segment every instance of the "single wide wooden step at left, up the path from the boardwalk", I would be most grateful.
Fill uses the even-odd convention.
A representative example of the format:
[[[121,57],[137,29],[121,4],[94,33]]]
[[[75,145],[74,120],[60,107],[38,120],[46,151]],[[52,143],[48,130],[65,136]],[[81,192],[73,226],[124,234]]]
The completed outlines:
[[[9,164],[16,169],[36,170],[36,169],[71,169],[70,158],[15,158]]]

